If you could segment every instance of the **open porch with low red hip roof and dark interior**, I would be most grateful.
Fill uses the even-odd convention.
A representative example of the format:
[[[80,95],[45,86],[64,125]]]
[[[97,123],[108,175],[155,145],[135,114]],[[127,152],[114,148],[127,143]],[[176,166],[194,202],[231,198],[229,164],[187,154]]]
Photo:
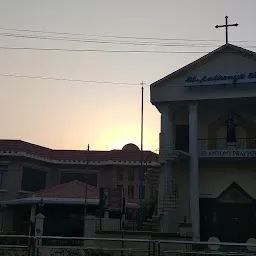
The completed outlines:
[[[87,188],[86,211],[85,188]],[[121,208],[109,207],[108,216],[104,216],[104,212],[100,211],[98,189],[85,186],[78,181],[1,203],[5,205],[3,233],[7,231],[10,233],[11,230],[11,233],[28,235],[38,213],[42,213],[45,217],[44,235],[48,236],[82,237],[85,232],[85,213],[86,216],[95,216],[96,219],[106,219],[103,223],[104,228],[120,228]],[[137,211],[138,208],[135,203],[126,203],[127,212]]]

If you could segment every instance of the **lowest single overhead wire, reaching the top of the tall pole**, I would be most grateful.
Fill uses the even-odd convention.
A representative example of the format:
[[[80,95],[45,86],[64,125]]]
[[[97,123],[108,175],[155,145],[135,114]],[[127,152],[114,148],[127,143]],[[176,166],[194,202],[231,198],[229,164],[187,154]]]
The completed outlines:
[[[16,77],[16,78],[29,78],[29,79],[41,79],[41,80],[54,80],[54,81],[67,81],[67,82],[79,82],[79,83],[119,84],[119,85],[132,85],[132,86],[139,86],[140,85],[140,83],[136,84],[136,83],[126,83],[126,82],[81,80],[81,79],[72,79],[72,78],[26,76],[26,75],[4,74],[4,73],[0,73],[0,76],[3,76],[3,77]]]

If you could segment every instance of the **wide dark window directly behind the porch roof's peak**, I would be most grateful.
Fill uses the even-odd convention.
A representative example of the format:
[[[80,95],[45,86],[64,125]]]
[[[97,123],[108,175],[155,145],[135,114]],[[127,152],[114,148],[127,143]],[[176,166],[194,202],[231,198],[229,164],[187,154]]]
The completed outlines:
[[[67,183],[71,182],[74,180],[78,180],[80,182],[86,183],[93,186],[97,187],[98,185],[98,179],[97,179],[97,174],[95,173],[67,173],[67,172],[62,172],[61,177],[60,177],[60,183]]]

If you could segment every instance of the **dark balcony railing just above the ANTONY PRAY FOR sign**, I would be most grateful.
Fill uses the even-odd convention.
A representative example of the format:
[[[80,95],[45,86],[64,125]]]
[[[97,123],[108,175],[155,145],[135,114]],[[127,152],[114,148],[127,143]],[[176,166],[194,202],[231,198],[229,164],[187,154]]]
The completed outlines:
[[[256,149],[256,137],[255,138],[237,138],[236,143],[233,143],[232,147],[227,143],[226,138],[215,139],[199,139],[199,150],[245,150]]]

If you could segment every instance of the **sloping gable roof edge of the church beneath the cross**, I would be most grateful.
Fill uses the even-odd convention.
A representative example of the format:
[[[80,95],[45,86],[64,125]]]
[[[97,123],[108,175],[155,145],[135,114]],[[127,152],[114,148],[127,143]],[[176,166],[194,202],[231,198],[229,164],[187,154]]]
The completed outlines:
[[[206,54],[203,57],[191,62],[190,64],[174,71],[173,73],[159,79],[158,81],[152,83],[150,86],[151,87],[161,86],[161,85],[163,85],[163,83],[166,80],[171,79],[171,78],[173,78],[177,75],[181,75],[182,73],[186,73],[189,70],[191,70],[192,68],[194,68],[195,66],[204,64],[206,61],[209,61],[210,59],[212,59],[217,54],[221,54],[221,53],[224,53],[224,52],[225,53],[232,52],[232,53],[236,53],[236,54],[245,54],[245,55],[247,55],[251,58],[254,58],[256,60],[256,53],[255,52],[228,43],[228,44],[222,45],[221,47],[215,49],[214,51],[209,52],[208,54]]]

